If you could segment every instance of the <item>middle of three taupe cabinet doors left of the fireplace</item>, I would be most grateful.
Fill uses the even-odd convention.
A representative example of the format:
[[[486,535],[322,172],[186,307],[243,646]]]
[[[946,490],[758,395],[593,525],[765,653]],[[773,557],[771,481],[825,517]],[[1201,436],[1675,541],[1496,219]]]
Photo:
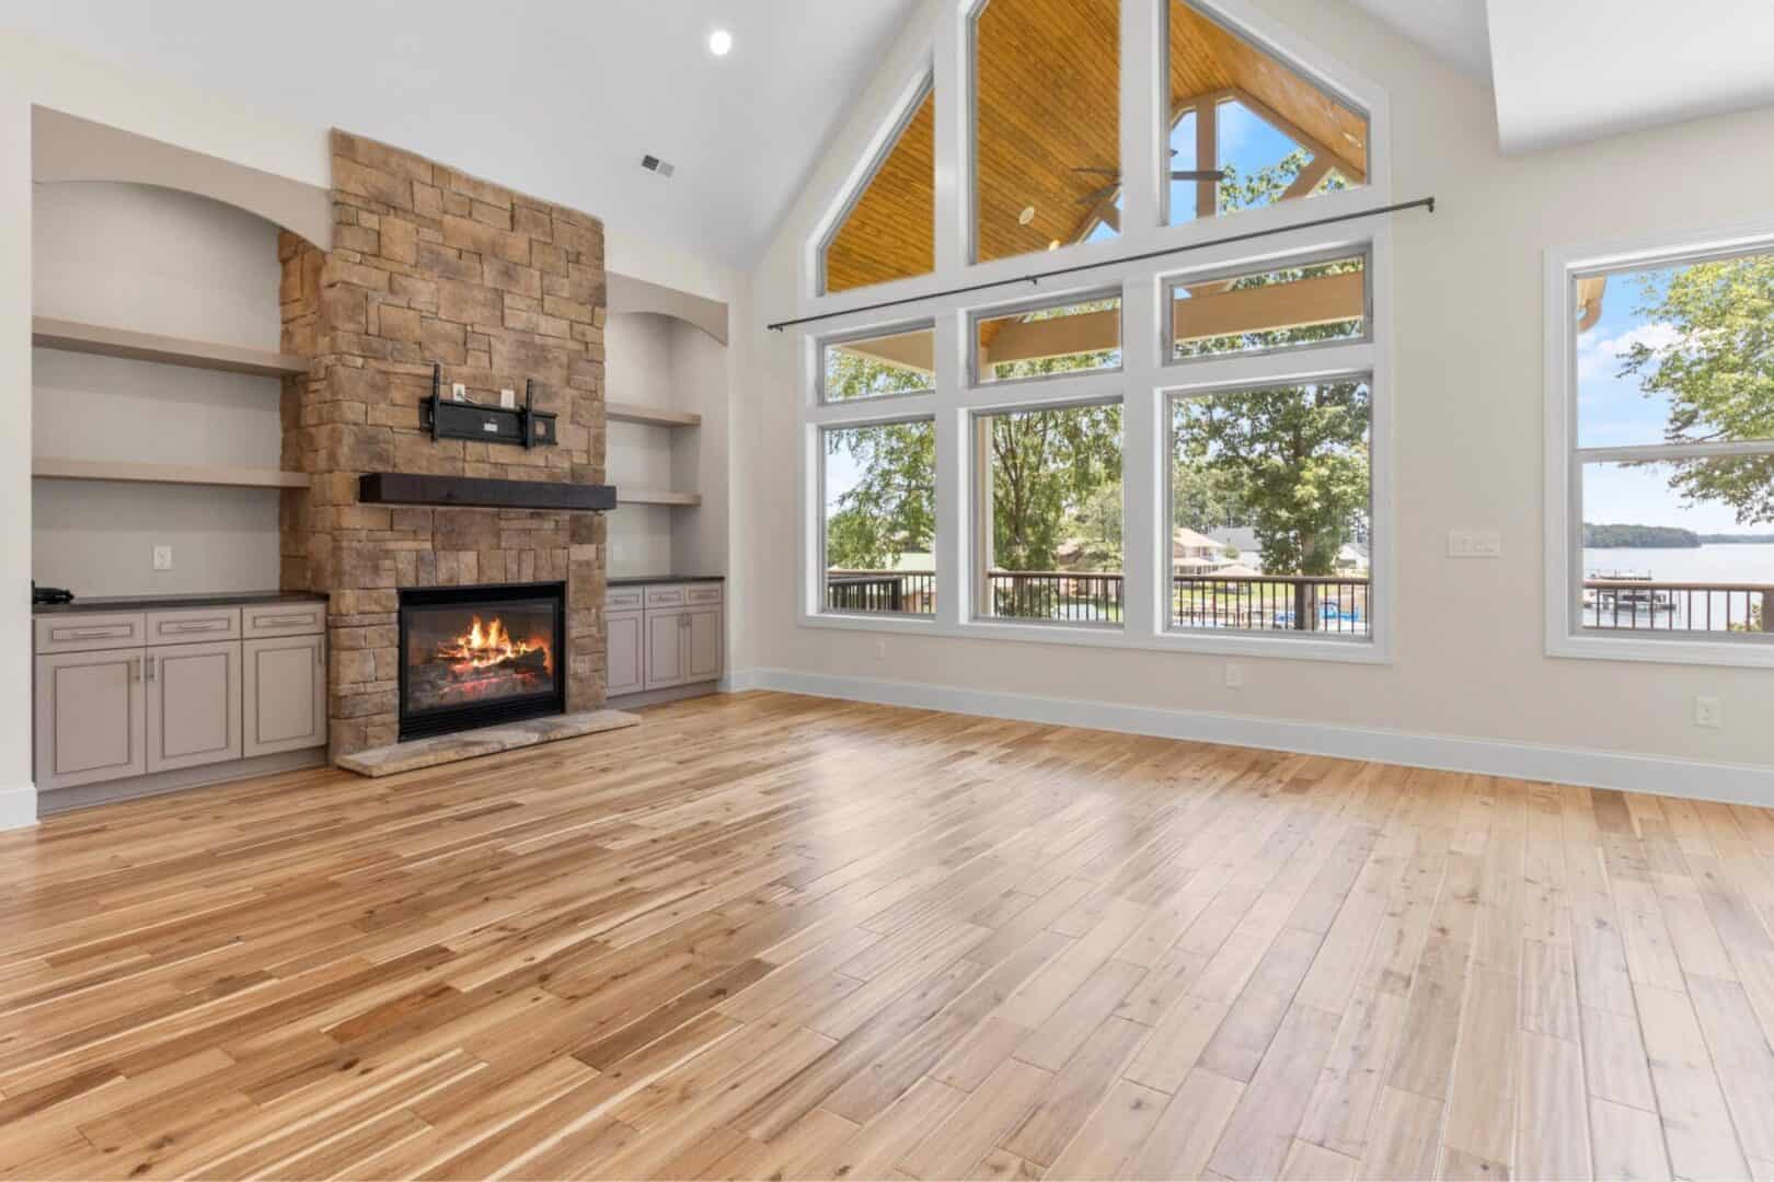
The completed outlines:
[[[147,769],[239,758],[239,642],[147,650]]]

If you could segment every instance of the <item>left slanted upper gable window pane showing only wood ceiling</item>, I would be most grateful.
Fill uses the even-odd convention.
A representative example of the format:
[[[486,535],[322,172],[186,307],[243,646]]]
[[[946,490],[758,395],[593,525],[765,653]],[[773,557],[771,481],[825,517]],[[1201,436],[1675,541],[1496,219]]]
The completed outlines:
[[[937,269],[937,92],[926,83],[820,248],[821,291]]]

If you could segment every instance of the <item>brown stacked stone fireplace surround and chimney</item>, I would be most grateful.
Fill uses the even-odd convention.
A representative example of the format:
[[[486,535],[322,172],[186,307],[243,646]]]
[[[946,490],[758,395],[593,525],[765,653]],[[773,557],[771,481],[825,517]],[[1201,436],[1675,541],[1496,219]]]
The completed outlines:
[[[603,705],[605,526],[594,514],[360,505],[358,477],[403,471],[603,482],[603,225],[412,152],[332,133],[334,246],[282,259],[282,583],[328,595],[334,757],[397,737],[403,587],[566,583],[568,709]],[[536,379],[559,445],[433,441],[431,365],[495,404]]]

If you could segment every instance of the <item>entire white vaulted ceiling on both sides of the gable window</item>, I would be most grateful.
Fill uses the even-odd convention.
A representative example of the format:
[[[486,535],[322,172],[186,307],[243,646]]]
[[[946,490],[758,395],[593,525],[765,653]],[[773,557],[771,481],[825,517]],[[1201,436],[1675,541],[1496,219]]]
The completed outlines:
[[[1352,0],[1490,85],[1504,151],[1774,103],[1774,0]],[[0,25],[749,268],[917,0],[0,0]],[[275,19],[273,19],[275,16]],[[729,28],[734,50],[708,53]],[[642,172],[644,152],[678,167]]]

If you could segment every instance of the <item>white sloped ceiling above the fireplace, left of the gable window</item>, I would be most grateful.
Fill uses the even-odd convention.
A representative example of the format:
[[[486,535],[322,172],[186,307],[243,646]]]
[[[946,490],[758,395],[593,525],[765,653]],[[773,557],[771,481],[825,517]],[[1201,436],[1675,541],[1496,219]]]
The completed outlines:
[[[745,268],[915,2],[0,0],[0,25]]]

